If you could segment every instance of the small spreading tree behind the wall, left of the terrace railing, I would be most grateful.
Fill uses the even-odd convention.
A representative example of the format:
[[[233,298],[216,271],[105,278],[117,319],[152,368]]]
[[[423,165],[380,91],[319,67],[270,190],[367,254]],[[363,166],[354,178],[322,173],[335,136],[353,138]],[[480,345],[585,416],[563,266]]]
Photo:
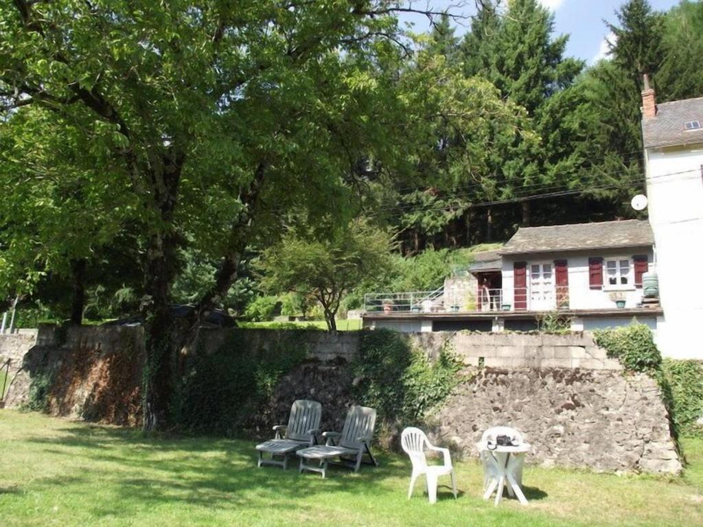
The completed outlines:
[[[362,280],[387,270],[392,245],[391,235],[360,220],[323,240],[291,232],[264,251],[259,264],[262,285],[271,292],[314,297],[328,330],[335,331],[342,297]]]

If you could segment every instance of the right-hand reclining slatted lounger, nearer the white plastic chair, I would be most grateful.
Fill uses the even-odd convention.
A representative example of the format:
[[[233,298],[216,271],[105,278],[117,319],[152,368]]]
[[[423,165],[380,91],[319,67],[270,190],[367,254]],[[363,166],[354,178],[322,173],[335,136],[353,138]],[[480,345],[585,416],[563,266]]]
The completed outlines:
[[[319,472],[324,478],[330,460],[335,457],[338,457],[340,461],[334,464],[353,468],[354,472],[359,471],[361,463],[373,464],[377,467],[378,462],[373,457],[370,447],[375,422],[376,410],[366,408],[366,406],[352,406],[347,412],[347,419],[344,421],[341,433],[323,432],[322,436],[327,440],[325,445],[297,451],[297,455],[300,457],[299,471]],[[368,461],[363,460],[364,455],[368,455]],[[306,460],[317,460],[318,465],[308,464]]]

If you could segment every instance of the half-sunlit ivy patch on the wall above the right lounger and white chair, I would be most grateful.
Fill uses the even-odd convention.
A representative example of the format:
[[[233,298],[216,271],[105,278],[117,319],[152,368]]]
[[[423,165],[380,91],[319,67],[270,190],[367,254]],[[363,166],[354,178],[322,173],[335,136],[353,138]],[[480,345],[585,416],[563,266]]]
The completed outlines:
[[[385,420],[415,423],[442,403],[458,384],[460,362],[442,350],[434,362],[391,330],[365,332],[352,365],[355,395]]]

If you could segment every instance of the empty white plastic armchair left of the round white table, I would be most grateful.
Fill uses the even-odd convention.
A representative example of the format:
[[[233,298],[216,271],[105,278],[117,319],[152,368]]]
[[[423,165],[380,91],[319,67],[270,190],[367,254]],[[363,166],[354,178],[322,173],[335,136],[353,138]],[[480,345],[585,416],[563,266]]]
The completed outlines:
[[[439,476],[451,476],[451,489],[456,499],[456,478],[454,477],[454,467],[451,464],[451,456],[448,448],[439,448],[432,445],[427,439],[425,432],[419,428],[410,427],[404,429],[401,434],[401,445],[403,450],[410,456],[413,462],[413,475],[410,476],[410,488],[408,488],[408,500],[413,495],[413,487],[419,476],[425,474],[427,481],[427,495],[430,503],[437,503],[437,480]],[[441,452],[444,456],[444,464],[428,465],[425,450]]]

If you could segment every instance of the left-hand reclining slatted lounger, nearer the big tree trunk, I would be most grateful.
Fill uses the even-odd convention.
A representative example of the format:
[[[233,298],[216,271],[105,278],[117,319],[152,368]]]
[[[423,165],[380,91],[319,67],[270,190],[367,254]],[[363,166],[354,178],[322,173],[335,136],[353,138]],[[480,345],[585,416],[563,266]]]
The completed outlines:
[[[257,466],[262,464],[273,464],[283,467],[285,470],[288,464],[288,456],[296,450],[314,445],[316,434],[320,432],[320,418],[322,417],[322,405],[316,401],[306,401],[301,399],[295,401],[290,407],[290,417],[288,425],[277,424],[273,427],[276,433],[273,439],[257,445],[259,460]],[[285,438],[281,431],[285,430]],[[264,459],[264,453],[271,455],[270,459]],[[279,458],[279,459],[276,459]]]

